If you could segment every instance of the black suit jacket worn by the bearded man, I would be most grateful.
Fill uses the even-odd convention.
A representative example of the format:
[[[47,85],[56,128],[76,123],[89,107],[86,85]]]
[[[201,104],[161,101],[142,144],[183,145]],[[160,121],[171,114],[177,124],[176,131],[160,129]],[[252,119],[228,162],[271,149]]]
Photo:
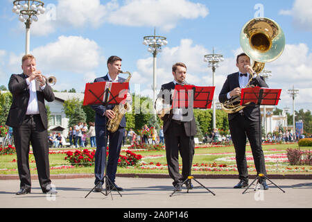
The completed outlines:
[[[157,98],[158,97],[164,98],[164,92],[168,92],[168,93],[170,93],[170,104],[172,105],[172,92],[173,92],[173,89],[175,89],[175,83],[173,83],[173,82],[166,83],[166,84],[162,85],[162,88],[160,89],[160,92],[159,92]],[[197,133],[196,121],[195,121],[195,117],[194,117],[194,114],[193,114],[193,110],[191,110],[191,112],[192,112],[191,114],[189,114],[189,113],[185,114],[185,115],[192,115],[191,121],[184,121],[185,134],[188,137],[195,136],[196,133]],[[172,110],[171,110],[170,114],[165,114],[165,116],[164,116],[164,133],[166,133],[166,130],[170,126],[172,117],[173,117]]]

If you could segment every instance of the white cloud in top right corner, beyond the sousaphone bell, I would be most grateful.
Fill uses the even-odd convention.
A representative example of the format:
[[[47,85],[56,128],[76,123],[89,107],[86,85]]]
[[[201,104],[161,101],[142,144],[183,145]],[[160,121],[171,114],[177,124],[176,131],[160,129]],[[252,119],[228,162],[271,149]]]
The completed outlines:
[[[280,15],[292,15],[295,27],[312,31],[312,1],[295,0],[291,10],[280,10]]]

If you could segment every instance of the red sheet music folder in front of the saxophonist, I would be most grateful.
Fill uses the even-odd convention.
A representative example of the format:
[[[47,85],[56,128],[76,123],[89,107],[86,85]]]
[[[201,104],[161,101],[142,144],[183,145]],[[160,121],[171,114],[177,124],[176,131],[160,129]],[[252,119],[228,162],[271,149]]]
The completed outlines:
[[[127,98],[128,88],[129,83],[86,83],[83,105],[123,104]],[[107,101],[105,101],[106,94]]]

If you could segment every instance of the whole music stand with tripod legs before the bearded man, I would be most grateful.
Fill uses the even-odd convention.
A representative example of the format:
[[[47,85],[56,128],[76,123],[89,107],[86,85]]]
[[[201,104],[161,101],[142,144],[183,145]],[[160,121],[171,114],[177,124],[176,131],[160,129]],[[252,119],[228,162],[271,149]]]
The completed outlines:
[[[214,98],[214,89],[215,87],[198,87],[195,85],[175,85],[175,91],[173,92],[173,106],[172,108],[199,108],[199,109],[209,109],[211,108],[211,102]],[[190,135],[191,135],[191,127],[190,127]],[[211,194],[214,194],[207,187],[202,185],[194,176],[191,176],[191,168],[192,168],[192,156],[191,156],[191,136],[189,137],[189,161],[190,161],[190,175],[182,182],[181,187],[189,182],[191,184],[191,180],[195,180],[201,187],[204,187]],[[170,196],[173,196],[177,189],[173,191]],[[187,193],[189,193],[189,187],[187,186]],[[214,194],[215,196],[216,194]]]

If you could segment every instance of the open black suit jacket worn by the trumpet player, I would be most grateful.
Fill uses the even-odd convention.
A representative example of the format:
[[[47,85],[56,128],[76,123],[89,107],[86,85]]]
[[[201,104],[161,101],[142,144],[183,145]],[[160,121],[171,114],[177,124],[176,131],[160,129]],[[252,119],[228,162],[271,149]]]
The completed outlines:
[[[26,77],[24,74],[12,74],[8,83],[8,88],[12,93],[12,105],[8,113],[8,119],[6,125],[12,127],[21,126],[26,115],[28,101],[29,101],[29,89],[26,83]],[[40,112],[40,117],[44,128],[48,128],[48,118],[46,116],[46,106],[44,105],[44,99],[48,102],[54,101],[54,93],[52,88],[46,84],[44,90],[40,88],[40,83],[36,81],[37,102]]]

